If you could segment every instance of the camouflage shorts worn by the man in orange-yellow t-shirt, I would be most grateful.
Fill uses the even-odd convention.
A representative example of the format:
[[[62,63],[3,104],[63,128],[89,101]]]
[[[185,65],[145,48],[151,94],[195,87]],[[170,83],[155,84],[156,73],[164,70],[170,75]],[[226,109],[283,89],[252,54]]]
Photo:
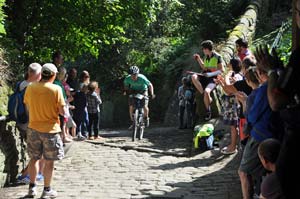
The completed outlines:
[[[59,133],[41,133],[27,130],[27,147],[30,158],[35,160],[61,160],[64,157],[63,142]]]

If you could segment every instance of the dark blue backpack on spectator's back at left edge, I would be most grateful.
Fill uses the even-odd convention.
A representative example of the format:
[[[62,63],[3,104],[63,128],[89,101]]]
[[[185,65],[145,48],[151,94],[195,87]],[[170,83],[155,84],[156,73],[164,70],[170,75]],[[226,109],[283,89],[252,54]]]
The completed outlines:
[[[26,88],[20,91],[20,84],[21,82],[17,83],[14,93],[9,97],[7,110],[9,119],[25,124],[28,122],[28,114],[23,102]]]

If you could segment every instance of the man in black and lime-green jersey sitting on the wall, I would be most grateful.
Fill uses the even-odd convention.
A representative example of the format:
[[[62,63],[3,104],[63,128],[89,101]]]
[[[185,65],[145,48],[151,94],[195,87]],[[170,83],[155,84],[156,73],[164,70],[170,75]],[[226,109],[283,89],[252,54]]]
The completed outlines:
[[[199,63],[200,68],[203,71],[202,76],[197,74],[192,75],[192,82],[196,89],[204,94],[204,105],[206,109],[205,120],[211,119],[211,107],[212,98],[210,96],[211,91],[216,87],[214,79],[217,75],[221,74],[223,70],[223,61],[221,55],[213,50],[213,42],[210,40],[203,41],[201,43],[204,59],[199,54],[194,54],[195,60]]]

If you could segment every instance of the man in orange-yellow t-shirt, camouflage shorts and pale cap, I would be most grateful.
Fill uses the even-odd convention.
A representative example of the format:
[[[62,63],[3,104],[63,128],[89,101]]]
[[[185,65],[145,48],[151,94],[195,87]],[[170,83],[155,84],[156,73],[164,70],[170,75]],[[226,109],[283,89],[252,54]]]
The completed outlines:
[[[29,162],[29,197],[37,195],[36,175],[37,161],[43,156],[44,191],[41,198],[57,196],[57,192],[51,189],[50,183],[54,168],[54,160],[64,157],[63,143],[59,133],[61,132],[59,114],[64,115],[65,101],[61,88],[53,84],[56,78],[57,68],[54,64],[44,64],[42,67],[42,79],[40,82],[29,85],[24,96],[24,103],[29,111],[29,125],[27,132]]]

